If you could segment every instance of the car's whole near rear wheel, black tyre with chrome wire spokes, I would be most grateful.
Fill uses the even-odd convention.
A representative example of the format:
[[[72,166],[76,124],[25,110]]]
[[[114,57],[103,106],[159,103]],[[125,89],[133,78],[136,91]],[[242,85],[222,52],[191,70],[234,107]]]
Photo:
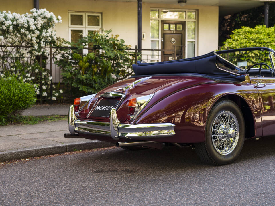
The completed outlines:
[[[233,120],[233,123],[231,123],[231,121],[230,125],[239,125],[238,138],[237,133],[235,133],[235,130],[237,131],[237,127],[234,130],[234,128],[231,129],[228,124],[227,126],[223,126],[223,124],[219,122],[219,120],[221,120],[221,118],[225,117],[226,115],[227,117],[229,116],[230,120]],[[219,125],[217,125],[218,122]],[[222,134],[224,136],[222,136]],[[213,106],[207,117],[205,126],[205,142],[195,143],[194,146],[197,155],[205,163],[208,163],[210,165],[224,165],[231,163],[235,159],[237,159],[237,157],[241,153],[241,149],[243,148],[244,139],[245,122],[239,106],[231,100],[222,99],[218,101],[215,106]],[[224,143],[221,143],[225,141],[228,142],[225,143],[225,145],[229,146],[224,146]],[[221,148],[219,148],[219,146],[221,146]],[[226,152],[226,149],[228,149],[228,152],[230,153]],[[224,153],[221,154],[221,152]]]

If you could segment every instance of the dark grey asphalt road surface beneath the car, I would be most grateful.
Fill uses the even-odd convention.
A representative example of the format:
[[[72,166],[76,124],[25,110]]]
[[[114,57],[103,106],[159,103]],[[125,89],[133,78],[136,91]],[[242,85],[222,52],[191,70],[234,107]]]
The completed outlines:
[[[0,167],[0,205],[275,205],[275,137],[247,140],[232,164],[191,148],[108,149]]]

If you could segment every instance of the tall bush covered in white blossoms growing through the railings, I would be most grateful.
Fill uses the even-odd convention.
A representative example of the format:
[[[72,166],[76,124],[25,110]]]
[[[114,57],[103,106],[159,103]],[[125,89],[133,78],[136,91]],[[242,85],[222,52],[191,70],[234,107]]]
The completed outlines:
[[[33,84],[37,95],[50,98],[52,76],[45,68],[46,60],[49,46],[60,45],[54,27],[62,20],[46,9],[30,11],[22,15],[0,12],[0,78],[16,74],[23,82]],[[53,88],[55,98],[51,99],[62,93]]]

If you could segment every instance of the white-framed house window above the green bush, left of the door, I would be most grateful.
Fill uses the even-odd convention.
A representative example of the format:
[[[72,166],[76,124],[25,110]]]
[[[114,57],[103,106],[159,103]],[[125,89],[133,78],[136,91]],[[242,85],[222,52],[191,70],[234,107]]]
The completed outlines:
[[[69,41],[78,42],[89,31],[102,28],[102,13],[69,12]]]

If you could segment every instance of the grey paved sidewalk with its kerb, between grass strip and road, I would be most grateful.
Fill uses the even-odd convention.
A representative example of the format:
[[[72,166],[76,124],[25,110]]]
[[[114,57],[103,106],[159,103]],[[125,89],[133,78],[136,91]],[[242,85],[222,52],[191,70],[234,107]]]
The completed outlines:
[[[113,146],[85,138],[64,138],[64,133],[69,133],[67,121],[0,126],[0,162]]]

